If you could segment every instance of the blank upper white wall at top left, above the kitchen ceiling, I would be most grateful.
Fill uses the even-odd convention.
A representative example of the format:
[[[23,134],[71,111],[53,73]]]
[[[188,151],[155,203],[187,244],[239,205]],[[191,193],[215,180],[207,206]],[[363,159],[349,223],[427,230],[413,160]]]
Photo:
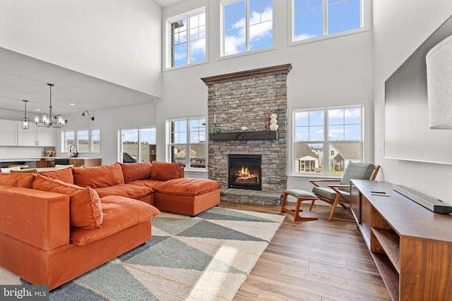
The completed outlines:
[[[0,0],[0,47],[159,97],[161,12],[153,0]]]

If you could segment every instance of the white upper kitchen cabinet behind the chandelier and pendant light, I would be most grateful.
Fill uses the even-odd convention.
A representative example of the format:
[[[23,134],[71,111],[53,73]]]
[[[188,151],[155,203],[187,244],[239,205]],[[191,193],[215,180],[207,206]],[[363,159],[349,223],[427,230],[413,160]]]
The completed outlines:
[[[23,130],[18,123],[18,145],[19,146],[55,146],[55,129],[39,128],[34,124],[30,125],[28,130]]]

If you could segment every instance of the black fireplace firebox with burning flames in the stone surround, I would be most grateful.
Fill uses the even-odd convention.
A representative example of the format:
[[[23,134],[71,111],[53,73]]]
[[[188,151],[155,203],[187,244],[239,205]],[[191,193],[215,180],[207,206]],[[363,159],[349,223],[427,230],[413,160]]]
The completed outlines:
[[[261,190],[261,155],[230,154],[228,188]]]

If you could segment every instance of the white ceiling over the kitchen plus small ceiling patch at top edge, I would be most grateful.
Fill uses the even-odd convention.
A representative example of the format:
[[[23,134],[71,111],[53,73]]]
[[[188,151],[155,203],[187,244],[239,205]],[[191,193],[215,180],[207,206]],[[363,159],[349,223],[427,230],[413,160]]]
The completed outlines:
[[[163,7],[183,0],[155,0]],[[85,110],[128,106],[154,102],[154,95],[93,78],[61,66],[40,61],[0,47],[0,110],[23,111],[28,100],[28,117],[35,111],[49,111],[49,86],[52,87],[54,114],[79,113]],[[71,105],[73,104],[73,105]]]

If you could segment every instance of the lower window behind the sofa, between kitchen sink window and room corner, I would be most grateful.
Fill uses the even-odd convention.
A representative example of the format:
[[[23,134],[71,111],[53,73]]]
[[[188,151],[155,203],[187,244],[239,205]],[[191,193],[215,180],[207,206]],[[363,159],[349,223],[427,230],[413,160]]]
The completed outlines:
[[[119,162],[149,161],[155,157],[155,127],[128,128],[120,130]],[[152,161],[152,160],[151,160]]]

